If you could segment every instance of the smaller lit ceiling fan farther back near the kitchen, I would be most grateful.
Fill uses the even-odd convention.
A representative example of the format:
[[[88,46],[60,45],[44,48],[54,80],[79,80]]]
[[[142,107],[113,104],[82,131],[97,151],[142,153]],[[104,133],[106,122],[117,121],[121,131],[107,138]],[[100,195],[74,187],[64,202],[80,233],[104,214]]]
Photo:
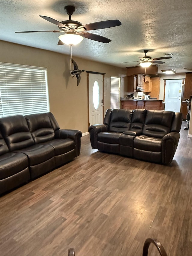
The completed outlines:
[[[149,52],[149,50],[144,50],[143,51],[145,53],[145,56],[144,57],[138,57],[140,58],[140,60],[136,60],[136,61],[130,61],[130,62],[140,62],[139,64],[137,64],[136,66],[138,65],[141,65],[142,67],[149,67],[152,63],[158,63],[158,64],[163,64],[165,62],[163,61],[158,61],[159,59],[172,59],[171,56],[167,56],[167,57],[159,57],[159,58],[152,58],[151,56],[147,56],[146,54]],[[123,64],[123,63],[130,63],[130,62],[122,62],[120,64]],[[142,65],[143,64],[143,65]]]

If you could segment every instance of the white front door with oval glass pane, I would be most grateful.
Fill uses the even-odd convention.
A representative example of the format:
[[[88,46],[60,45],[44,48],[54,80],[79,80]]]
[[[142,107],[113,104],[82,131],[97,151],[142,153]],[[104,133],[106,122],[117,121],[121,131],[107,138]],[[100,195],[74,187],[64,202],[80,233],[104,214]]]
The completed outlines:
[[[103,123],[103,75],[91,74],[89,83],[89,125]]]

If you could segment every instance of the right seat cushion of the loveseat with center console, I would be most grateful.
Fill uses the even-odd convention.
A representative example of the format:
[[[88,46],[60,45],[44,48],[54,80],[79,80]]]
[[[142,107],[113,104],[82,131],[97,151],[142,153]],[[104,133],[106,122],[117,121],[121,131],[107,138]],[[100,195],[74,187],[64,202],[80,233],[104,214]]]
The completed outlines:
[[[162,139],[160,138],[140,135],[134,138],[134,148],[152,152],[161,152],[161,142]]]

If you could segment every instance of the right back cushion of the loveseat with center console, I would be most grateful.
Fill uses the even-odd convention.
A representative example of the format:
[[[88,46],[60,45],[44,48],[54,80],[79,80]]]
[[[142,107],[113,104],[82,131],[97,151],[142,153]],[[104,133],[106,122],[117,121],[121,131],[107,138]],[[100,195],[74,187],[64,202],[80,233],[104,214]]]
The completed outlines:
[[[163,138],[171,131],[174,112],[164,110],[148,110],[143,134],[149,137]]]

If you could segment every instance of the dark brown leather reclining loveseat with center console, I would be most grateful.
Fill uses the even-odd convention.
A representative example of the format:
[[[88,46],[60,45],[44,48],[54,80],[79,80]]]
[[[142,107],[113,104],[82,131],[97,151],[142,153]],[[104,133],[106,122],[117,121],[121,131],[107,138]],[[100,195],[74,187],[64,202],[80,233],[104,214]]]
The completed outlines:
[[[91,146],[158,164],[170,164],[179,142],[182,113],[108,109],[103,124],[91,125]]]

